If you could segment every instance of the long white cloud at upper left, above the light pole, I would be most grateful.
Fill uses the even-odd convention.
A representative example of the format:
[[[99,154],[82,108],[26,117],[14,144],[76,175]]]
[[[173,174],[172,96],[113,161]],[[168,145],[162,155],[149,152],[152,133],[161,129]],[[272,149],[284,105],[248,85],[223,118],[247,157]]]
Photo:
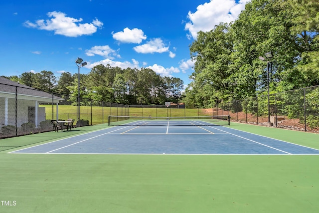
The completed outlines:
[[[48,12],[47,15],[51,19],[39,19],[35,23],[27,20],[24,22],[24,26],[54,31],[54,34],[68,37],[91,35],[97,31],[98,27],[102,28],[103,26],[103,22],[97,18],[92,23],[77,23],[81,22],[82,18],[67,17],[65,13],[57,11]]]

